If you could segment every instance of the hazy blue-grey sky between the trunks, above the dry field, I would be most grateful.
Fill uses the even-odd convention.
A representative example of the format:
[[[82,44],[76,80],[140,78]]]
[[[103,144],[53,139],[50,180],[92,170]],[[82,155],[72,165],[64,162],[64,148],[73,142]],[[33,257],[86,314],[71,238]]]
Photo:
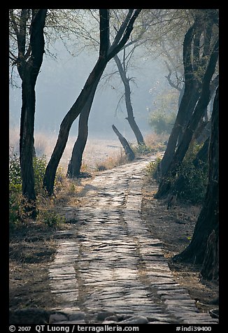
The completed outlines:
[[[57,52],[57,60],[45,55],[41,73],[38,75],[36,83],[36,132],[59,132],[59,125],[64,115],[76,101],[98,56],[95,51],[88,55],[85,50],[77,57],[72,57],[59,43],[57,43]],[[167,73],[164,66],[159,64],[159,60],[145,60],[141,56],[136,59],[135,64],[136,69],[129,73],[130,76],[135,78],[135,84],[131,83],[134,115],[141,131],[150,132],[147,108],[152,105],[155,98],[150,93],[150,89],[155,86],[156,82],[159,82],[158,90],[167,86],[166,78],[164,78]],[[115,62],[112,60],[105,73],[110,73],[113,68],[115,68]],[[109,84],[106,83],[105,85],[104,81],[101,80],[90,114],[90,136],[110,134],[111,137],[115,137],[111,128],[113,124],[123,134],[131,136],[131,129],[127,120],[125,120],[124,99],[121,104],[122,111],[119,109],[115,112],[117,103],[123,93],[122,82],[118,76],[115,76]],[[19,127],[20,108],[21,91],[19,88],[10,88],[10,127]],[[77,122],[76,120],[71,129],[73,135],[77,135]]]

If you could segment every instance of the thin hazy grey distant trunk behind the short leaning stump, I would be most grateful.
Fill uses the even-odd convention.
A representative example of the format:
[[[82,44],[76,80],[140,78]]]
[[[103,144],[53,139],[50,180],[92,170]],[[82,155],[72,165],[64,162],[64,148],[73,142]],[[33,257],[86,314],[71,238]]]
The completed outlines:
[[[134,135],[136,136],[136,140],[138,145],[145,145],[143,134],[141,134],[140,129],[138,128],[138,125],[136,124],[136,121],[134,119],[134,113],[133,108],[131,104],[131,88],[129,85],[129,78],[127,78],[126,71],[124,71],[124,68],[120,62],[120,59],[117,55],[114,57],[115,63],[117,64],[117,68],[120,73],[120,77],[122,79],[122,83],[124,84],[124,95],[125,95],[125,104],[127,108],[127,121],[129,122],[129,125],[134,132]]]

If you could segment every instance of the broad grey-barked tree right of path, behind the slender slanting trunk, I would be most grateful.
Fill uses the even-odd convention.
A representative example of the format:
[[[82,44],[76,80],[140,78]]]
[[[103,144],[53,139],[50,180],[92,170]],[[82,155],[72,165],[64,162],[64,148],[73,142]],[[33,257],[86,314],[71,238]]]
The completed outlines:
[[[158,166],[157,174],[159,178],[163,178],[168,171],[176,148],[182,142],[185,127],[192,117],[199,99],[204,73],[208,64],[208,57],[211,53],[212,28],[218,22],[217,20],[217,10],[197,10],[194,23],[185,34],[183,42],[185,90],[175,124],[169,137],[166,152]],[[217,33],[218,31],[215,31],[215,35]],[[201,52],[202,38],[204,38],[204,45]]]

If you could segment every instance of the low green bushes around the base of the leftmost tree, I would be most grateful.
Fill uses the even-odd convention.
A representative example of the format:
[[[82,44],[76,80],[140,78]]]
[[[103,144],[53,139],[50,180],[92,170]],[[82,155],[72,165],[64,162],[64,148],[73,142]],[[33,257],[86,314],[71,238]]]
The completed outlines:
[[[43,226],[56,229],[64,223],[64,218],[55,213],[54,198],[48,198],[43,189],[43,176],[45,173],[45,156],[34,157],[34,180],[38,202],[38,214],[36,222]],[[55,180],[56,190],[62,188],[64,174],[61,167],[57,171]],[[10,232],[16,232],[21,227],[28,227],[31,222],[29,214],[29,202],[22,196],[22,179],[20,173],[20,159],[11,149],[9,164],[9,228]]]

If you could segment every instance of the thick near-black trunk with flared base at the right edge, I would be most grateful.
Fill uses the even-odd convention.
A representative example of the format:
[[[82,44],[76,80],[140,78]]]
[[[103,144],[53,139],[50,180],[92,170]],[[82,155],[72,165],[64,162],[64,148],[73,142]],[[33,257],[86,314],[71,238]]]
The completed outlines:
[[[204,206],[194,228],[192,241],[173,260],[203,264],[201,275],[218,279],[218,203],[219,203],[219,135],[218,135],[217,90],[212,115],[211,141],[209,151],[209,177]]]

